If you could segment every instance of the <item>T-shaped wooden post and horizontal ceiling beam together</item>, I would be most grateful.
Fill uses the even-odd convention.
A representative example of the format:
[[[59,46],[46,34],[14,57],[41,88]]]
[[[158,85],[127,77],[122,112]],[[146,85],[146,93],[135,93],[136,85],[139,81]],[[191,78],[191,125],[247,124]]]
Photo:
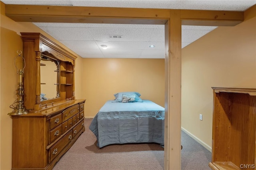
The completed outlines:
[[[5,5],[6,16],[19,22],[125,23],[165,25],[164,169],[181,169],[181,25],[234,26],[244,12]]]

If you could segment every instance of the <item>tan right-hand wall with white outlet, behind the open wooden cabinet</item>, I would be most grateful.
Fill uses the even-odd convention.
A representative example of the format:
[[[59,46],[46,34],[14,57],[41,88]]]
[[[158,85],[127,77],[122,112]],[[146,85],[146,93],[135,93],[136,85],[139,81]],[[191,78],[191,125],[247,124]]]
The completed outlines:
[[[210,148],[211,87],[256,88],[255,23],[256,17],[234,27],[218,27],[182,49],[182,128]]]

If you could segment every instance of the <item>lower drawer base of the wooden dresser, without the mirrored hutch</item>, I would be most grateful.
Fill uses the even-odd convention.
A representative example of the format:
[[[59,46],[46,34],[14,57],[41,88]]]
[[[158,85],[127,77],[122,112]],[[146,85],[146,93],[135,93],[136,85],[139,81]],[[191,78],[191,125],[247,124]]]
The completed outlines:
[[[85,100],[12,116],[12,170],[51,170],[84,132]]]

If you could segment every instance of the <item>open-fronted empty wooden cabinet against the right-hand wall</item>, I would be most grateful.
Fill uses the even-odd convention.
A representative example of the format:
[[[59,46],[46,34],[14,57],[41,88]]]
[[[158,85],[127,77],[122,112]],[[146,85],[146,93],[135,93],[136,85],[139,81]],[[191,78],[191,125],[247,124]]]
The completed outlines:
[[[212,170],[256,168],[256,89],[212,88]]]

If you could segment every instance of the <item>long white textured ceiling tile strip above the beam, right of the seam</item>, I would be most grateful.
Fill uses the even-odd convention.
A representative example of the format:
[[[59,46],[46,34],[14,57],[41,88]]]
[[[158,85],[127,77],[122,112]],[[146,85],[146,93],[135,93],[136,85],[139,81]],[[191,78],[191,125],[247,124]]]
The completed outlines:
[[[240,10],[255,4],[254,0],[72,0],[73,6],[120,8],[162,8],[191,10]],[[233,4],[233,5],[232,5]]]

